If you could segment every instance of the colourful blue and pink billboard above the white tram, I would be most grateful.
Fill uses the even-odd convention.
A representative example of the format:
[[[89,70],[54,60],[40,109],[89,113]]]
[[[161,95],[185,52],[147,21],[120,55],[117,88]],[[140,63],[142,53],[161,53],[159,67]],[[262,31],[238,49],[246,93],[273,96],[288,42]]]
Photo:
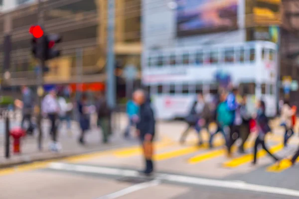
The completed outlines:
[[[239,0],[175,0],[177,36],[238,28]]]

